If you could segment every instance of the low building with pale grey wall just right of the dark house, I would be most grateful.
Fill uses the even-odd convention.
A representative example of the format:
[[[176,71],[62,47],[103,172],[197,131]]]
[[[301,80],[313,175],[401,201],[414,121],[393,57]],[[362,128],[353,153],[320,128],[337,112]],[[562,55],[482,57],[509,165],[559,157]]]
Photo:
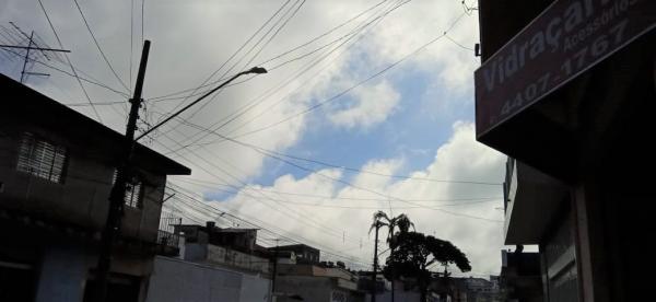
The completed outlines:
[[[256,229],[175,224],[177,257],[157,256],[147,302],[268,302],[271,262]]]

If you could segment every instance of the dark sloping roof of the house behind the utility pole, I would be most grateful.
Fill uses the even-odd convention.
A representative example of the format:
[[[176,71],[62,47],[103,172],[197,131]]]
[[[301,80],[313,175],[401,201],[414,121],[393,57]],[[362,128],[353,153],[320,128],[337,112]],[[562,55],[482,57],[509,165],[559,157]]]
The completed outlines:
[[[79,139],[87,146],[103,150],[110,158],[118,159],[121,152],[120,146],[125,139],[119,133],[92,118],[78,113],[68,106],[44,95],[39,92],[20,83],[15,80],[0,74],[0,84],[3,94],[11,95],[7,100],[3,109],[0,111],[2,120],[23,121],[26,118],[31,123],[45,129],[55,129],[65,132],[67,138]],[[189,175],[191,170],[173,161],[156,151],[137,143],[133,153],[134,162],[139,166],[166,175]]]

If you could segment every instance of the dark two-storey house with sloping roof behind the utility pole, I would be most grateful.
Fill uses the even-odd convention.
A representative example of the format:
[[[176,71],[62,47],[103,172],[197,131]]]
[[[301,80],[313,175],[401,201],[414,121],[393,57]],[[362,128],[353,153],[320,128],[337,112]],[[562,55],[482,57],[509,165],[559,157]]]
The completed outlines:
[[[89,301],[124,136],[0,74],[0,301]],[[167,175],[138,144],[109,301],[143,301]]]

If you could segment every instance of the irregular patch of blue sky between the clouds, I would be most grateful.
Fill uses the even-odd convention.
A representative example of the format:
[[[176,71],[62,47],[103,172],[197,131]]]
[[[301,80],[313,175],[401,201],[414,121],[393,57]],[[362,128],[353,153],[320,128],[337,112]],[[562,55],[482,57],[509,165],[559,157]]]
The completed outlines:
[[[473,119],[473,102],[471,93],[452,94],[446,90],[434,90],[435,94],[426,94],[432,83],[424,73],[400,67],[387,74],[386,79],[391,79],[394,88],[401,94],[401,101],[398,109],[384,123],[353,130],[330,124],[325,118],[326,114],[318,112],[311,117],[312,121],[302,139],[284,153],[356,169],[372,159],[402,158],[406,161],[399,174],[425,167],[433,161],[437,147],[452,135],[452,125],[456,120]],[[348,105],[351,102],[352,97],[344,95],[333,103]],[[429,111],[438,106],[435,103],[440,102],[458,105],[443,114]],[[323,169],[321,165],[307,162],[298,164],[314,170]],[[251,182],[271,185],[281,174],[301,178],[309,172],[267,159],[262,174]]]

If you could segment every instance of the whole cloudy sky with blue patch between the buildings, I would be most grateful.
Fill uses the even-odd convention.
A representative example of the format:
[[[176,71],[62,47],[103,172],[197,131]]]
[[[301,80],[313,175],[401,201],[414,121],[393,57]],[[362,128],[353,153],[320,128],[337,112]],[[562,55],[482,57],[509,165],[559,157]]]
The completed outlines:
[[[25,84],[119,132],[143,39],[152,45],[139,132],[265,67],[140,141],[192,170],[169,177],[167,213],[259,228],[262,245],[303,242],[355,269],[371,267],[373,213],[406,213],[467,254],[467,276],[487,276],[505,248],[505,155],[476,141],[473,5],[0,0],[0,43],[27,45],[16,25],[42,47],[70,50],[33,51],[27,71],[50,76]],[[25,51],[10,50],[0,50],[0,72],[19,80]]]

